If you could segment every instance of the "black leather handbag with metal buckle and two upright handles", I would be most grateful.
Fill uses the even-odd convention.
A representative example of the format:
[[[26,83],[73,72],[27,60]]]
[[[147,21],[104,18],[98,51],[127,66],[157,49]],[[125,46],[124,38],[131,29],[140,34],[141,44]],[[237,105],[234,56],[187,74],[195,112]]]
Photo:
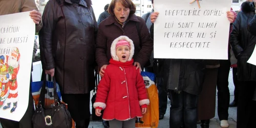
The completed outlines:
[[[36,105],[35,113],[32,117],[33,127],[36,128],[71,128],[72,117],[66,108],[66,104],[60,102],[57,95],[56,80],[53,77],[54,83],[54,105],[50,109],[45,109],[45,93],[46,93],[46,78],[42,86],[39,102]]]

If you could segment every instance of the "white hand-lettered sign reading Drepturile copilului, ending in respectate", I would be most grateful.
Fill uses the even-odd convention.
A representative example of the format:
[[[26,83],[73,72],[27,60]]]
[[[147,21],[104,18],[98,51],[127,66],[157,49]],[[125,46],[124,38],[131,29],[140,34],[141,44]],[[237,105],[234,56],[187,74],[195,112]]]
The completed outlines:
[[[231,1],[192,1],[154,1],[154,58],[228,59]]]

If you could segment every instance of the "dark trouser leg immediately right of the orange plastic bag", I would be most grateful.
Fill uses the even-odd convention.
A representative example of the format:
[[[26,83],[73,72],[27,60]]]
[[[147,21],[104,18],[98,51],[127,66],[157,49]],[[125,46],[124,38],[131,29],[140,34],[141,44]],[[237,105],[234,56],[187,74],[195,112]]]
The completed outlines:
[[[163,116],[167,109],[167,93],[164,91],[162,77],[157,77],[157,89],[159,99],[159,119],[163,119]]]

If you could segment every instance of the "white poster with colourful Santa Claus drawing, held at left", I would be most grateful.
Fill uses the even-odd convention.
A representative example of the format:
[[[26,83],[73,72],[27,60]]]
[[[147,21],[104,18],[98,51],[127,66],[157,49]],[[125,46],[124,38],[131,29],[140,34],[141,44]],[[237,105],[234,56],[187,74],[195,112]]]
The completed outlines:
[[[35,23],[29,12],[0,16],[0,117],[19,121],[29,102]]]

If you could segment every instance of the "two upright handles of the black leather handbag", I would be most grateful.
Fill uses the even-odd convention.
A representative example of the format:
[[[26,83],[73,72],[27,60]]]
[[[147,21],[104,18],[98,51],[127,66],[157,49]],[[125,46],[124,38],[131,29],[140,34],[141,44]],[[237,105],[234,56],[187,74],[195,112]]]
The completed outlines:
[[[48,77],[48,76],[47,76]],[[38,104],[36,105],[36,108],[41,108],[42,106],[45,105],[45,94],[46,94],[46,81],[47,77],[44,78],[44,82],[42,84],[40,96],[39,96],[39,101]],[[58,93],[57,93],[57,84],[56,84],[56,79],[55,77],[52,77],[53,80],[53,96],[54,96],[54,106],[59,106],[60,100],[58,98]]]

